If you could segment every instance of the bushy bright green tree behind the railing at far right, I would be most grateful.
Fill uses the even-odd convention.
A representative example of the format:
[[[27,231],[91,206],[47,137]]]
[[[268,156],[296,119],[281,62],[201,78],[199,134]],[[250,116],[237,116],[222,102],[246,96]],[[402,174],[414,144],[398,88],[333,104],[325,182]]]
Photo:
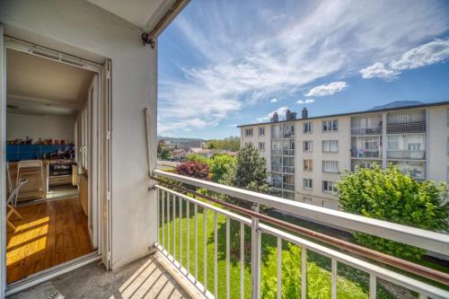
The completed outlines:
[[[346,212],[365,215],[430,231],[449,228],[448,190],[445,183],[413,180],[390,164],[384,171],[356,168],[338,183],[339,203]],[[425,251],[366,233],[355,233],[357,242],[377,251],[406,259],[419,259]]]

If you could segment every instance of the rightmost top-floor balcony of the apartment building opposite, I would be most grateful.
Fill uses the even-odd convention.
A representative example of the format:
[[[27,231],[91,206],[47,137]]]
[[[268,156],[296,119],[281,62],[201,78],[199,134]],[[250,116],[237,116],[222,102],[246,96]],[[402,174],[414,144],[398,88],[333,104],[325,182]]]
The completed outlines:
[[[387,134],[426,133],[426,110],[390,112],[387,114]]]

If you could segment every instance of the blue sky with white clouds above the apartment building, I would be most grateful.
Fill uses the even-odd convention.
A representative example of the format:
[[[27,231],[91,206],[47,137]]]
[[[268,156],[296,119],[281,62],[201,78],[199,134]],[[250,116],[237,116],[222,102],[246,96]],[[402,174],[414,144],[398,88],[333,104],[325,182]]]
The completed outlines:
[[[449,1],[191,0],[158,40],[158,135],[449,101]]]

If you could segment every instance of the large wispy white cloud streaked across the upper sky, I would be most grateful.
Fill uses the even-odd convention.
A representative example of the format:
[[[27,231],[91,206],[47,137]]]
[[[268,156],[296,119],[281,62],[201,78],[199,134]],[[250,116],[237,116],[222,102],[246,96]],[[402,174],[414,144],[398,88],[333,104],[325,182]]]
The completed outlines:
[[[171,45],[184,42],[182,51],[188,53],[170,57],[180,66],[173,73],[180,75],[160,73],[162,129],[216,126],[259,101],[298,96],[318,79],[356,75],[375,62],[393,61],[449,28],[444,2],[405,1],[291,1],[260,8],[251,20],[248,13],[261,6],[259,0],[189,4],[170,28],[178,31],[170,36],[179,37],[169,40]]]

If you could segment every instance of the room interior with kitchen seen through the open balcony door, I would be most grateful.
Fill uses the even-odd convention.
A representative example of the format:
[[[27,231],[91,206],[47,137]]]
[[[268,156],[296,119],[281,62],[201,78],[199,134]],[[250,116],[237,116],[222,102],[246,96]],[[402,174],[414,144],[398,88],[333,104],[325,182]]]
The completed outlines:
[[[95,73],[8,48],[6,74],[10,284],[93,251],[88,99]]]

